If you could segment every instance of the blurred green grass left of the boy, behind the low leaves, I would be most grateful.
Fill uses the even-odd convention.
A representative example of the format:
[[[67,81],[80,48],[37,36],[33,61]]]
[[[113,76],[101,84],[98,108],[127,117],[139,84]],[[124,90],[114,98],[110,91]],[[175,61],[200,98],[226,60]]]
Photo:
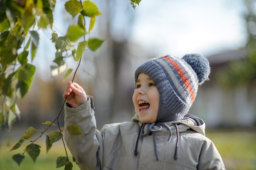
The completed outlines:
[[[41,146],[40,155],[37,157],[35,163],[29,157],[27,153],[24,154],[25,158],[20,163],[20,166],[13,161],[11,158],[13,155],[18,153],[23,153],[25,147],[30,144],[29,141],[24,141],[24,143],[20,146],[20,148],[16,150],[11,150],[11,148],[19,141],[19,137],[22,137],[25,133],[25,130],[20,130],[19,132],[15,132],[11,134],[11,144],[7,146],[7,141],[2,140],[0,143],[0,170],[64,170],[64,166],[61,168],[56,168],[56,160],[58,157],[65,156],[65,149],[62,144],[62,141],[57,141],[52,145],[52,148],[46,153],[46,145],[45,145],[45,135],[42,136],[42,139],[39,139],[35,142]],[[69,160],[72,161],[72,155],[69,150],[68,157]],[[72,170],[80,170],[76,163],[72,162],[73,168]]]

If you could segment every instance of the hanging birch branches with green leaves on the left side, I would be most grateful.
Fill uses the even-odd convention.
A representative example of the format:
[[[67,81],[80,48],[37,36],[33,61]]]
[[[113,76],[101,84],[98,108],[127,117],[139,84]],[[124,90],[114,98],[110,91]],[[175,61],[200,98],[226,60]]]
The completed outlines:
[[[48,3],[47,3],[48,2]],[[13,99],[15,99],[14,101],[16,102],[16,100],[18,98],[22,99],[25,94],[27,93],[29,86],[32,83],[33,80],[33,75],[35,73],[35,66],[31,65],[28,63],[28,54],[29,51],[27,51],[27,49],[29,48],[29,46],[31,46],[31,61],[33,61],[35,53],[36,53],[36,49],[38,47],[38,42],[39,42],[39,35],[37,33],[37,31],[34,31],[34,27],[37,24],[38,28],[46,28],[48,25],[52,28],[52,23],[53,23],[53,18],[52,15],[49,15],[50,17],[47,18],[47,12],[49,12],[49,10],[45,10],[43,12],[43,10],[45,9],[44,6],[46,7],[50,7],[49,5],[50,1],[41,1],[41,0],[37,0],[37,2],[34,2],[33,0],[28,0],[26,1],[25,4],[18,4],[21,5],[22,7],[24,7],[23,9],[20,8],[19,12],[20,12],[20,18],[19,15],[17,18],[13,18],[13,20],[9,20],[8,16],[6,15],[6,19],[4,20],[4,22],[6,22],[7,24],[5,25],[6,27],[3,28],[3,24],[1,23],[1,31],[3,30],[3,33],[1,33],[1,42],[2,44],[5,44],[5,47],[7,47],[9,42],[8,38],[10,36],[12,36],[12,38],[20,38],[18,40],[18,43],[15,44],[15,46],[11,46],[12,49],[4,49],[1,48],[1,78],[2,80],[4,80],[6,83],[8,81],[8,86],[6,87],[6,85],[1,86],[1,96],[4,95],[3,97],[3,101],[2,101],[2,106],[9,104],[9,102]],[[45,5],[46,4],[46,5]],[[9,7],[12,7],[14,4],[8,4],[7,2],[4,3],[4,7],[6,8],[6,10],[9,10]],[[17,4],[15,4],[16,6]],[[50,11],[51,13],[54,10],[54,5],[55,2],[52,3],[52,8]],[[17,7],[17,6],[16,6]],[[49,8],[48,8],[49,9]],[[85,40],[85,35],[86,33],[86,29],[85,29],[85,17],[90,17],[90,27],[89,27],[89,34],[90,31],[92,30],[92,28],[94,27],[94,23],[96,21],[96,16],[97,15],[101,15],[101,13],[99,12],[97,6],[89,1],[86,0],[84,2],[82,1],[77,1],[77,0],[70,0],[67,1],[65,3],[65,9],[68,13],[70,13],[70,15],[73,16],[73,18],[78,15],[79,13],[79,17],[78,17],[78,22],[77,25],[70,25],[67,33],[65,36],[62,37],[58,37],[58,34],[53,30],[52,33],[52,42],[55,44],[56,47],[56,53],[55,53],[55,59],[54,62],[56,63],[56,65],[52,65],[50,66],[51,71],[52,71],[52,76],[56,76],[60,73],[62,73],[65,68],[66,68],[66,64],[64,61],[64,57],[63,57],[63,53],[68,53],[69,51],[72,51],[72,55],[74,57],[75,61],[79,60],[79,64],[76,68],[76,71],[79,68],[79,65],[81,63],[81,58],[82,58],[82,54],[83,51],[85,50],[86,46],[88,46],[89,49],[91,49],[92,51],[96,51],[99,46],[101,46],[102,44],[102,40],[99,40],[97,38],[89,38],[88,41]],[[36,11],[35,14],[32,13],[32,11]],[[12,15],[15,15],[17,13],[17,11],[11,10],[9,11],[11,12]],[[27,15],[26,15],[27,14]],[[12,16],[10,15],[10,16]],[[40,18],[39,22],[37,22],[37,20],[35,18]],[[15,21],[14,21],[15,19]],[[48,21],[52,21],[52,22],[43,22],[42,20],[47,20]],[[22,20],[23,22],[28,22],[29,24],[26,25],[22,25]],[[32,22],[31,22],[32,21]],[[16,30],[16,25],[19,25],[19,30],[22,31],[15,31]],[[32,30],[29,30],[30,27],[34,25],[32,27]],[[18,34],[18,35],[17,35]],[[30,34],[29,40],[27,41],[27,44],[25,45],[25,47],[22,49],[21,48],[21,44],[25,43],[25,38],[28,36],[28,34]],[[77,45],[77,49],[75,49],[75,43],[81,38],[83,37],[83,41],[82,42],[78,42]],[[15,50],[13,51],[13,48],[15,48]],[[22,49],[23,51],[21,53],[18,53],[18,50]],[[13,57],[10,60],[9,57],[7,57],[7,54],[10,52],[13,52]],[[2,67],[5,66],[5,67]],[[18,66],[18,68],[16,69],[15,67]],[[10,69],[11,68],[11,69]],[[6,77],[6,72],[7,70],[11,70],[13,71],[12,73],[10,73],[7,78]],[[74,77],[76,75],[76,71],[74,73]],[[68,69],[64,78],[66,78],[70,73],[72,72],[71,69]],[[73,80],[74,80],[73,77]],[[11,86],[11,83],[13,83],[16,79],[18,79],[17,82],[17,86],[14,89]],[[72,80],[72,82],[73,82]],[[9,93],[7,93],[9,92]],[[10,100],[7,100],[10,99]],[[14,103],[15,103],[14,102]],[[65,101],[63,103],[63,106],[65,104]],[[61,108],[61,111],[63,110],[63,106]],[[7,117],[7,115],[9,115],[8,119],[11,120],[10,118],[10,114],[13,113],[15,115],[15,113],[10,109],[10,108],[18,108],[18,106],[16,104],[11,104],[11,107],[7,108],[7,112],[6,114],[3,113],[4,107],[2,107],[1,109],[1,117],[2,117],[2,125],[4,123],[4,118]],[[6,107],[5,107],[6,108]],[[64,148],[65,148],[65,153],[66,156],[65,157],[58,157],[57,158],[57,162],[56,162],[56,167],[61,167],[61,166],[65,166],[65,169],[72,169],[72,163],[69,161],[68,159],[68,155],[67,155],[67,149],[65,147],[65,142],[63,139],[63,135],[62,135],[62,131],[60,126],[59,126],[59,121],[58,118],[61,115],[61,111],[59,112],[58,116],[56,117],[56,119],[54,119],[54,121],[50,122],[47,121],[44,124],[48,124],[48,127],[41,132],[41,134],[33,141],[30,140],[31,144],[27,145],[24,152],[23,153],[18,153],[16,155],[13,155],[13,160],[20,165],[20,163],[22,162],[22,160],[25,158],[24,154],[25,152],[27,152],[27,154],[32,158],[32,160],[35,162],[36,158],[38,157],[38,155],[40,154],[40,146],[35,144],[35,141],[37,139],[39,139],[43,134],[46,135],[46,151],[48,152],[49,149],[52,147],[52,144],[55,143],[56,141],[59,141],[60,139],[62,139]],[[17,114],[16,114],[17,116]],[[13,119],[14,120],[14,119]],[[57,121],[57,126],[58,126],[58,131],[51,131],[49,132],[49,134],[46,133],[46,131],[54,125],[54,122]],[[9,127],[12,126],[13,121],[8,121],[8,125]],[[68,126],[68,130],[71,129],[71,132],[76,131],[74,130],[74,127],[80,129],[78,126]],[[20,148],[20,146],[23,144],[23,142],[25,140],[29,140],[37,131],[35,128],[33,127],[29,127],[25,133],[25,135],[23,137],[21,137],[21,139],[18,141],[18,143],[16,143],[13,148],[11,150],[16,150],[18,148]],[[78,132],[81,130],[78,130]],[[77,134],[77,132],[76,132]],[[74,159],[73,159],[74,160]]]

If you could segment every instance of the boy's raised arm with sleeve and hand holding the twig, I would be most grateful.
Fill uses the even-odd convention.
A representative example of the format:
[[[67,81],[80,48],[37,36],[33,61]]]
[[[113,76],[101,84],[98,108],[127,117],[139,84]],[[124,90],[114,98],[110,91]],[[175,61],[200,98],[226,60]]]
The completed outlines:
[[[100,170],[102,154],[99,148],[102,145],[102,137],[96,129],[92,97],[87,96],[81,86],[71,82],[67,84],[63,97],[68,103],[65,105],[64,119],[67,147],[81,170]],[[70,123],[77,124],[83,134],[71,135],[67,130]]]

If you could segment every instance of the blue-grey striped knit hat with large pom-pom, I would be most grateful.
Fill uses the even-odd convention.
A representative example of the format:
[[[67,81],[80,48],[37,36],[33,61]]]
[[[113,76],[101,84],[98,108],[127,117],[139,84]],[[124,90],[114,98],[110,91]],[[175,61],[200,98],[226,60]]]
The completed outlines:
[[[140,73],[147,74],[159,91],[157,121],[177,121],[188,113],[198,85],[209,80],[210,66],[200,54],[186,54],[182,58],[166,55],[141,64],[135,71],[135,84]]]

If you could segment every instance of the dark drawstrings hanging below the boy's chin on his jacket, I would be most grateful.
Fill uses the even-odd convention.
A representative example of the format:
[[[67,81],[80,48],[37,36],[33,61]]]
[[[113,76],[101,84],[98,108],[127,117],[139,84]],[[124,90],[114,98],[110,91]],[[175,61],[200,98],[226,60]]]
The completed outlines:
[[[155,156],[156,156],[156,159],[158,160],[159,157],[158,157],[158,152],[157,152],[157,144],[156,144],[155,132],[161,131],[162,127],[166,128],[169,131],[169,137],[168,137],[167,141],[170,141],[171,140],[171,135],[172,135],[171,128],[169,126],[167,126],[166,124],[164,124],[164,123],[155,122],[155,123],[148,124],[148,130],[147,130],[146,133],[144,133],[145,126],[146,126],[146,124],[142,124],[140,126],[140,128],[139,128],[139,134],[138,134],[136,145],[135,145],[134,155],[137,156],[137,154],[138,154],[137,147],[138,147],[138,142],[139,142],[140,134],[144,137],[144,136],[149,135],[150,132],[152,132],[153,133],[153,142],[154,142]],[[155,129],[154,126],[158,126],[158,129]],[[177,131],[177,142],[176,142],[176,147],[175,147],[174,159],[176,160],[177,159],[177,147],[178,147],[178,142],[179,142],[179,130],[178,130],[177,124],[175,124],[175,128],[176,128],[176,131]]]

